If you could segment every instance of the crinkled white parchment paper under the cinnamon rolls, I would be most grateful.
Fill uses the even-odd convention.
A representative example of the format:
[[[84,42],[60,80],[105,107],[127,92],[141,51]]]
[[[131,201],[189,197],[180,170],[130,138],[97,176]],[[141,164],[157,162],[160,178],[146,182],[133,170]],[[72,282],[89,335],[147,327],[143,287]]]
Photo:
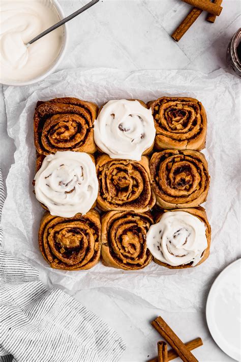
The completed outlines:
[[[33,194],[35,147],[33,115],[36,102],[73,96],[95,101],[139,98],[153,100],[164,95],[198,98],[208,119],[206,149],[211,175],[207,202],[203,204],[212,227],[209,258],[200,266],[169,270],[152,262],[138,271],[104,267],[88,271],[51,269],[43,259],[37,241],[43,209]],[[2,224],[3,248],[40,271],[49,286],[65,291],[96,287],[123,290],[142,297],[166,311],[194,311],[202,307],[207,286],[214,276],[240,255],[239,231],[239,80],[224,71],[210,75],[194,71],[135,71],[114,69],[72,69],[49,76],[37,85],[4,89],[8,133],[16,145],[15,163],[7,178],[7,199]],[[203,293],[204,291],[204,293]],[[133,295],[134,294],[134,295]],[[101,308],[101,306],[100,306]]]

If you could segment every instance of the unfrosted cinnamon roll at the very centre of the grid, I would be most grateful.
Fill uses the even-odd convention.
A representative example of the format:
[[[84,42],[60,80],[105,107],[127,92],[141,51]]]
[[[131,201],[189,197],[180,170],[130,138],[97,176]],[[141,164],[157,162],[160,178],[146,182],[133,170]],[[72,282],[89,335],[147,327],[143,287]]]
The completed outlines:
[[[97,159],[96,170],[99,179],[97,205],[101,210],[145,212],[155,205],[146,156],[137,162],[102,154]]]

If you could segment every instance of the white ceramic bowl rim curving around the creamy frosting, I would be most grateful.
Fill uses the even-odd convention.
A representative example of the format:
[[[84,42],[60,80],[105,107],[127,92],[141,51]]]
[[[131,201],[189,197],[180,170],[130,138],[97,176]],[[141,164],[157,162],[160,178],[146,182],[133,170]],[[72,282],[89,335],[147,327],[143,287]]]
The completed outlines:
[[[63,12],[61,6],[57,2],[57,0],[51,0],[51,2],[53,4],[53,6],[55,7],[55,9],[57,10],[59,18],[63,19],[65,17],[65,15],[64,15],[64,12]],[[62,25],[62,27],[63,27],[63,33],[64,33],[62,48],[59,51],[59,54],[58,54],[57,58],[55,59],[55,61],[50,65],[49,69],[46,72],[42,73],[40,76],[38,76],[34,79],[27,80],[27,81],[18,81],[18,80],[1,81],[1,79],[0,79],[0,83],[4,84],[6,86],[28,86],[30,84],[37,83],[38,81],[43,80],[49,74],[53,73],[53,71],[56,69],[56,67],[59,65],[59,63],[61,63],[61,61],[64,57],[64,54],[66,52],[66,47],[67,47],[67,43],[68,43],[68,37],[69,37],[68,26],[65,23],[64,25]]]

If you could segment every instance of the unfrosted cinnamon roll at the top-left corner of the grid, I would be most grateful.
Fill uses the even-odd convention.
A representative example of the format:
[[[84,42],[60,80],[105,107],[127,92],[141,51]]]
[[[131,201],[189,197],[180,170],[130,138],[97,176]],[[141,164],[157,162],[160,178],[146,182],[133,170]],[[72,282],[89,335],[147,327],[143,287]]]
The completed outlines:
[[[94,153],[93,123],[98,106],[78,98],[38,102],[34,115],[34,141],[40,155],[56,151]]]

